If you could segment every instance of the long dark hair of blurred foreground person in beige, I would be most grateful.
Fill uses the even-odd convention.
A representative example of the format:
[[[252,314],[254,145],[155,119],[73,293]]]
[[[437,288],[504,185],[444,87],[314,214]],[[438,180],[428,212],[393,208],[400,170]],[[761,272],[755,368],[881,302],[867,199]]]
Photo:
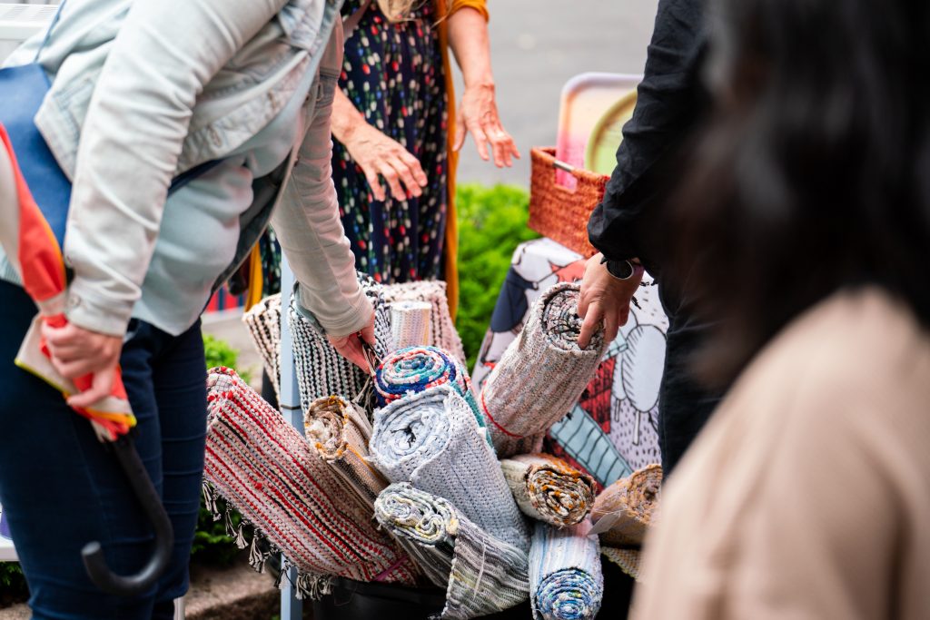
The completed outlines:
[[[847,286],[879,284],[930,326],[928,6],[711,2],[713,112],[672,205],[673,271],[727,331],[703,376],[729,380]]]

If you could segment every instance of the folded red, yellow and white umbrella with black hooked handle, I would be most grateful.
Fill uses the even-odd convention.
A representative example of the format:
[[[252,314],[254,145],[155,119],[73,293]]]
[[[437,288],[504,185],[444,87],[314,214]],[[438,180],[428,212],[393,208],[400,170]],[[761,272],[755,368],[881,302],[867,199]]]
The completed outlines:
[[[31,67],[38,68],[37,65],[27,65],[15,69],[29,71]],[[38,69],[41,71],[41,68]],[[80,376],[73,381],[61,376],[51,363],[51,354],[41,335],[41,326],[42,323],[53,327],[68,324],[64,314],[67,279],[64,259],[61,256],[64,230],[63,227],[59,227],[58,231],[53,231],[46,219],[46,213],[54,213],[55,219],[63,222],[62,213],[67,213],[70,193],[43,191],[41,195],[44,204],[37,204],[30,187],[47,183],[49,175],[55,178],[54,182],[58,185],[65,188],[70,186],[51,158],[51,153],[47,152],[47,147],[38,136],[34,125],[30,122],[19,129],[16,134],[19,138],[13,139],[7,135],[6,128],[0,125],[3,154],[13,173],[18,198],[15,202],[0,201],[0,221],[3,221],[0,243],[3,244],[7,258],[17,270],[23,288],[39,308],[39,314],[23,340],[16,364],[45,380],[67,398],[71,394],[90,388],[93,376]],[[20,142],[19,147],[17,141]],[[43,148],[44,156],[48,160],[47,165],[31,165],[26,169],[27,174],[23,174],[17,164],[15,151],[36,155],[36,151]],[[36,162],[33,161],[32,164]],[[28,174],[30,172],[33,174]],[[88,543],[81,551],[87,574],[91,581],[105,591],[122,595],[139,594],[152,587],[166,568],[174,544],[174,532],[161,499],[127,435],[129,429],[136,425],[136,418],[126,398],[126,389],[119,369],[116,370],[113,388],[108,396],[89,407],[73,409],[90,421],[101,442],[107,442],[113,447],[113,453],[126,472],[132,490],[152,521],[155,531],[153,556],[138,574],[113,574],[107,567],[100,543],[97,542]]]

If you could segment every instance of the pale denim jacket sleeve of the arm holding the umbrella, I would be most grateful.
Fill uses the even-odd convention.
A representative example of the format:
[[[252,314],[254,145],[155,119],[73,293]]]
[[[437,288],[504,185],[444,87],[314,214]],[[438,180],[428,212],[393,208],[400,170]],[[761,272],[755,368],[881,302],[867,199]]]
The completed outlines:
[[[136,0],[86,114],[65,260],[67,315],[122,335],[152,259],[197,96],[286,0]]]

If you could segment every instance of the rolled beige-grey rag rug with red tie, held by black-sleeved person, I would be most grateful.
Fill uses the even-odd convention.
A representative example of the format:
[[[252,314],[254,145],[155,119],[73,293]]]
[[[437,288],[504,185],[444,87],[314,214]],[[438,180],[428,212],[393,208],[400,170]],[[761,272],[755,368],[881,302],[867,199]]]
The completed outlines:
[[[491,371],[479,397],[501,457],[539,452],[546,431],[578,402],[604,353],[604,331],[578,348],[578,284],[555,284]]]

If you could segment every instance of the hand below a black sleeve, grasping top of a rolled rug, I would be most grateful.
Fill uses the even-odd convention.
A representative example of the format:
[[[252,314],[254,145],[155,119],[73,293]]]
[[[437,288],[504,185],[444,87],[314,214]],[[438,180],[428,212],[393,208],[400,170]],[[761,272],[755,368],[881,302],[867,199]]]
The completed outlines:
[[[643,270],[638,269],[629,279],[618,280],[607,272],[602,258],[603,255],[597,254],[588,259],[581,280],[578,297],[578,316],[584,320],[578,335],[581,349],[588,347],[601,323],[604,323],[604,341],[613,342],[620,325],[625,325],[630,318],[630,300],[643,279]]]

